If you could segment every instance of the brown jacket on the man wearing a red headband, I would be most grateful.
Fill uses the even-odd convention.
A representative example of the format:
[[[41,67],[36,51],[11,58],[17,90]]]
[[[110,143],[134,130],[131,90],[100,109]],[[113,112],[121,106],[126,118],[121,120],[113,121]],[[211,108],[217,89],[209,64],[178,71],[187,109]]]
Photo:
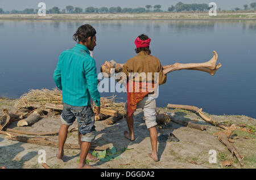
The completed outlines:
[[[147,76],[147,72],[151,72],[152,82],[154,82],[154,72],[158,72],[159,85],[166,83],[167,79],[167,76],[163,74],[159,59],[143,51],[129,59],[125,65],[123,65],[122,72],[126,74],[127,78],[129,77],[129,72],[138,72],[139,74],[145,72],[147,80],[151,79],[151,77]],[[135,78],[133,80],[135,81]],[[142,78],[140,78],[140,82],[142,81]]]

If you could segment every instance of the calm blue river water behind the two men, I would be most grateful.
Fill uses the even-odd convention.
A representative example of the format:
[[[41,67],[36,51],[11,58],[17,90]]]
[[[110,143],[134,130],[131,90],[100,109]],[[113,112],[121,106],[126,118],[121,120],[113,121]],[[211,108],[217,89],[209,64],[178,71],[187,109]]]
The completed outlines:
[[[162,65],[208,61],[216,50],[222,64],[216,75],[168,74],[157,105],[195,105],[209,114],[256,118],[256,21],[249,20],[0,20],[0,96],[17,98],[29,89],[54,88],[58,57],[75,45],[73,33],[85,23],[97,30],[93,54],[98,72],[106,60],[125,63],[133,57],[134,39],[141,33],[152,38],[152,55]],[[126,100],[124,93],[115,95]]]

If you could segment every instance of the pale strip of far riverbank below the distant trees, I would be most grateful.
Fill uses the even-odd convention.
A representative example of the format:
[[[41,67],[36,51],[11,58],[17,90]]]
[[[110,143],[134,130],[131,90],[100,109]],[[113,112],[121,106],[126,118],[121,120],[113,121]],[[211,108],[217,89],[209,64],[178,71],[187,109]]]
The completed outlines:
[[[143,13],[143,14],[47,14],[46,16],[38,16],[35,14],[2,14],[0,19],[42,19],[42,20],[110,20],[110,19],[241,19],[256,20],[256,12],[251,13],[222,13],[217,16],[209,16],[209,14],[185,14],[185,13]]]

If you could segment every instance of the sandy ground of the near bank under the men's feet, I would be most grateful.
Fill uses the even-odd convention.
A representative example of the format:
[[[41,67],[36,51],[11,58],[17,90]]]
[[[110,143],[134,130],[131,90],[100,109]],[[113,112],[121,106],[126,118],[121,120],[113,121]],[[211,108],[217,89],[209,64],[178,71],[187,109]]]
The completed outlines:
[[[13,101],[0,101],[0,116],[2,110],[8,108],[10,112],[15,113]],[[135,141],[130,142],[123,136],[123,131],[127,130],[125,119],[122,119],[115,125],[105,125],[104,121],[96,121],[96,143],[97,145],[108,144],[109,147],[116,147],[117,151],[125,148],[133,148],[130,151],[119,153],[122,157],[119,160],[109,162],[90,162],[90,165],[98,168],[226,168],[221,165],[221,161],[233,160],[232,166],[228,168],[241,168],[236,157],[232,157],[228,149],[222,145],[216,137],[215,132],[220,128],[209,125],[198,117],[195,113],[185,110],[167,110],[159,108],[160,113],[175,113],[177,118],[194,121],[207,126],[207,131],[200,131],[189,127],[177,125],[174,122],[168,123],[165,128],[159,129],[158,135],[170,134],[172,132],[180,142],[160,142],[158,143],[159,162],[154,162],[147,156],[151,152],[150,134],[143,120],[142,110],[135,112],[134,130]],[[210,115],[218,122],[229,122],[246,124],[247,126],[256,126],[256,119],[244,115]],[[16,122],[9,126],[16,130],[44,132],[56,131],[60,127],[60,118],[42,118],[32,126],[16,127]],[[77,127],[75,122],[73,127]],[[244,156],[245,166],[242,168],[256,168],[256,136],[240,130],[233,132],[240,136],[235,139],[234,147]],[[242,136],[251,139],[242,138]],[[47,136],[51,140],[58,140],[58,136]],[[68,135],[67,143],[77,143],[77,132]],[[55,155],[57,148],[44,147],[35,144],[26,144],[5,139],[5,135],[0,135],[0,166],[6,168],[43,168],[38,163],[38,151],[46,151],[46,162],[51,168],[76,168],[79,159],[80,150],[65,149],[63,160],[58,160]],[[214,149],[217,152],[217,163],[209,164],[209,151]],[[91,151],[90,151],[91,152]],[[196,162],[193,164],[192,162]]]

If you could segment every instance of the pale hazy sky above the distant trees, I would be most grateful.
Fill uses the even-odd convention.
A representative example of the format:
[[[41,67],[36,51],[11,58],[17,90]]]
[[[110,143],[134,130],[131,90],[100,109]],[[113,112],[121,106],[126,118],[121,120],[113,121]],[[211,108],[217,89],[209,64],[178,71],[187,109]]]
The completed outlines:
[[[52,8],[57,6],[61,9],[65,8],[67,5],[72,5],[74,7],[82,7],[83,9],[89,6],[93,7],[144,7],[145,5],[162,5],[162,10],[167,10],[171,5],[175,5],[177,2],[183,3],[210,3],[215,2],[217,8],[224,8],[230,10],[235,7],[243,8],[243,5],[256,2],[256,0],[0,0],[0,8],[6,11],[13,9],[24,10],[24,8],[38,8],[38,3],[46,3],[46,8]]]

